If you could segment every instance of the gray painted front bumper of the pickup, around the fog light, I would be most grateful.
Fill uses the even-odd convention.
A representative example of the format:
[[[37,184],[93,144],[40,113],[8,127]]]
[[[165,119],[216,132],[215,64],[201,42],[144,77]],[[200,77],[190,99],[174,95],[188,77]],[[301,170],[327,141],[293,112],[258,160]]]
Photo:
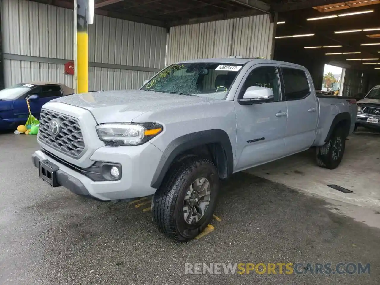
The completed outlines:
[[[71,192],[109,201],[154,194],[156,189],[150,187],[150,183],[161,156],[162,151],[150,142],[133,147],[100,147],[90,157],[92,161],[119,163],[122,166],[121,179],[110,181],[93,181],[42,150],[32,155],[32,161],[37,168],[40,167],[40,160],[49,160],[58,166],[57,183]]]

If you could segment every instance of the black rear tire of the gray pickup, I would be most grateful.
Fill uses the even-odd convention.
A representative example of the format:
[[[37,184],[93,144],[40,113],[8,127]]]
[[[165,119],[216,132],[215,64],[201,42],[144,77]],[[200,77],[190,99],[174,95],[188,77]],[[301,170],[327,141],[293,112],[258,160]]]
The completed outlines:
[[[334,146],[340,140],[341,150],[339,155],[334,156],[334,151],[336,149]],[[323,146],[317,147],[316,158],[317,165],[323,168],[335,169],[339,166],[340,161],[342,161],[344,150],[346,146],[346,137],[344,135],[344,130],[341,127],[336,128],[330,140],[326,142]]]

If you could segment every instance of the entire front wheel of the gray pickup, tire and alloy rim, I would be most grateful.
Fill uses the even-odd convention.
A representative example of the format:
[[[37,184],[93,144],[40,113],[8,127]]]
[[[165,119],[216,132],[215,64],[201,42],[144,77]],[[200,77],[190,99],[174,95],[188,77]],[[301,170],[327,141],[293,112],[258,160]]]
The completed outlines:
[[[175,163],[152,199],[153,221],[166,236],[188,241],[212,218],[219,177],[212,161],[192,156]]]

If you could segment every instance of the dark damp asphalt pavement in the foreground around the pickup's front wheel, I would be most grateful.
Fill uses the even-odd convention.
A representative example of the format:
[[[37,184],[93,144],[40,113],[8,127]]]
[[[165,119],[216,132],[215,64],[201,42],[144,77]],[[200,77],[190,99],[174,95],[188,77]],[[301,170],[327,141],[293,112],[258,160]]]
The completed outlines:
[[[32,166],[35,136],[0,135],[0,145],[2,285],[380,284],[380,229],[338,208],[380,217],[374,205],[326,199],[238,173],[222,183],[215,211],[221,221],[211,222],[215,230],[183,244],[158,233],[150,212],[142,211],[145,206],[103,203],[50,188]],[[342,168],[354,149],[347,150]],[[369,275],[185,275],[184,263],[195,262],[362,262],[371,268]]]

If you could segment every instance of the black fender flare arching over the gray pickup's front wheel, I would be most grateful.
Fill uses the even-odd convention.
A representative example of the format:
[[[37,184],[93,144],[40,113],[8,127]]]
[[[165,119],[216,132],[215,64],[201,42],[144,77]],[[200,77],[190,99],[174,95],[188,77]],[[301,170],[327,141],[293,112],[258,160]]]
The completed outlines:
[[[233,173],[233,152],[230,137],[224,130],[205,130],[190,133],[174,139],[164,150],[160,161],[158,162],[156,171],[153,175],[150,186],[152,188],[160,187],[162,180],[169,170],[171,163],[174,159],[186,150],[193,149],[197,146],[204,146],[207,144],[218,143],[223,147],[224,154],[218,152],[223,156],[218,155],[216,160],[222,159],[226,161],[227,176]],[[219,170],[219,169],[218,169]]]

